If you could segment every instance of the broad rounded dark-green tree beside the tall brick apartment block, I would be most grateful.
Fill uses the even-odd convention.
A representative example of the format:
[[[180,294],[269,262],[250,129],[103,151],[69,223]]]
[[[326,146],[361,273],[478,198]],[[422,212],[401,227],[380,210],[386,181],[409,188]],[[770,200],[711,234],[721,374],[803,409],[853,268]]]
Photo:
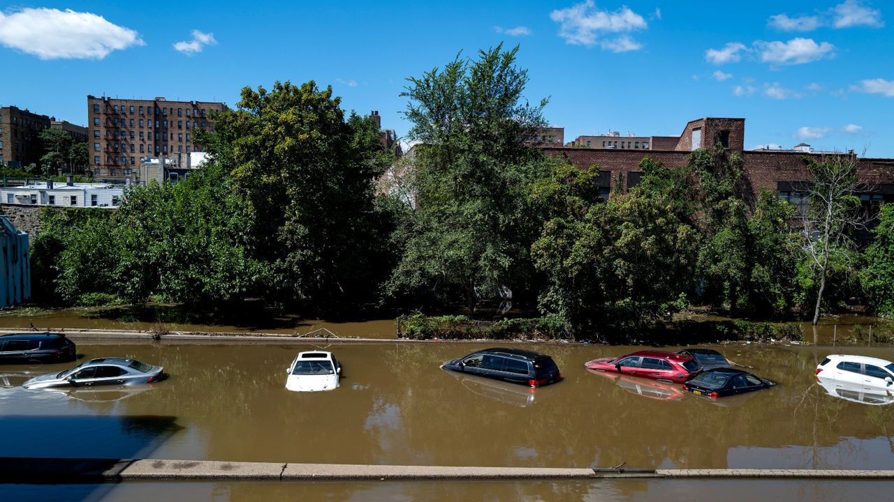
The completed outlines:
[[[359,301],[383,280],[373,180],[389,158],[375,122],[345,120],[340,106],[313,81],[243,88],[237,108],[199,138],[248,202],[268,298]]]

